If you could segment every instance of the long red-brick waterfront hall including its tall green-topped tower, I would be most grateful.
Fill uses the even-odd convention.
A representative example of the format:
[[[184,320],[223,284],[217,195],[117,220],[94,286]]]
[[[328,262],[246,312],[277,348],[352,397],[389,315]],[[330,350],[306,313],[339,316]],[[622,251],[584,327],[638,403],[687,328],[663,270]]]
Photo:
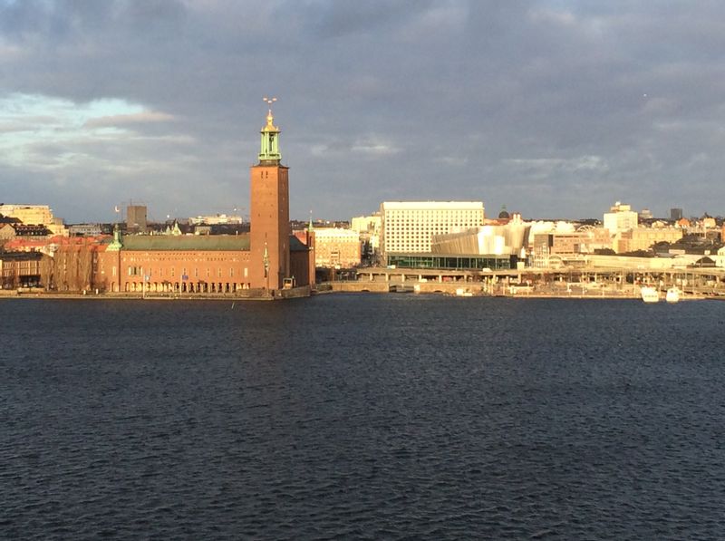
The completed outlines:
[[[287,171],[280,165],[272,111],[251,170],[252,227],[237,235],[129,235],[47,240],[43,285],[58,291],[266,295],[314,281],[314,236],[290,235]],[[15,242],[15,241],[11,241]],[[30,240],[15,242],[25,249]],[[253,292],[251,292],[253,293]],[[274,294],[273,294],[274,295]]]

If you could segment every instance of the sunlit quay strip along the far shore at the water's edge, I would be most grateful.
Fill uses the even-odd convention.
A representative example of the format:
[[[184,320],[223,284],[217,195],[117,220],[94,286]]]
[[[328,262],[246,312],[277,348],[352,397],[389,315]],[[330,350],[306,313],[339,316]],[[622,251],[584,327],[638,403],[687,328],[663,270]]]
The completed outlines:
[[[240,290],[235,293],[57,292],[42,288],[0,290],[0,298],[87,299],[204,299],[226,301],[270,301],[326,293],[415,293],[515,298],[640,298],[640,286],[652,285],[662,295],[677,286],[683,299],[725,298],[725,269],[688,268],[652,271],[622,268],[500,269],[456,271],[448,269],[391,269],[368,267],[345,280],[323,282],[313,287],[276,290]]]

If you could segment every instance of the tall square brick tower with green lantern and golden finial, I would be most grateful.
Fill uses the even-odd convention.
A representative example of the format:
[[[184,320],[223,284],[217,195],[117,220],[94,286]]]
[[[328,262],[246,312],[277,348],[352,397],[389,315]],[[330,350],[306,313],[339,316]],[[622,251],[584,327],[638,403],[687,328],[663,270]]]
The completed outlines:
[[[289,168],[280,165],[279,128],[271,109],[276,98],[265,101],[270,109],[260,132],[259,163],[250,175],[249,282],[252,287],[281,289],[290,275]]]

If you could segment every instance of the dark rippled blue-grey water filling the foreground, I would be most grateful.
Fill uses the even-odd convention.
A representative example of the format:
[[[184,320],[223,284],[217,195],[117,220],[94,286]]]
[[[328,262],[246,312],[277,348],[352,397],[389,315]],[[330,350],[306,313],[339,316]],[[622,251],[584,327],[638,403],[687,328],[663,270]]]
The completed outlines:
[[[5,538],[717,538],[725,303],[0,302]]]

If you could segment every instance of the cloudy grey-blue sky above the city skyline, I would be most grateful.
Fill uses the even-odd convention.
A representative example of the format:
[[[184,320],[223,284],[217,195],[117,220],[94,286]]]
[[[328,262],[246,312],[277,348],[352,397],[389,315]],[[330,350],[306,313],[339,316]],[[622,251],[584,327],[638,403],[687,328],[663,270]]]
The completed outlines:
[[[0,202],[248,215],[265,96],[293,218],[725,214],[721,0],[0,0]]]

